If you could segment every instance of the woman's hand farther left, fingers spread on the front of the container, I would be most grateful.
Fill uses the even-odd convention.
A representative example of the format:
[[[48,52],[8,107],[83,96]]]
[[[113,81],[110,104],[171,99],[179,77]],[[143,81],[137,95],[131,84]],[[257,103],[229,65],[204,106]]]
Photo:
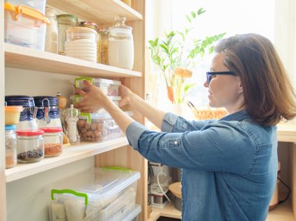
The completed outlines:
[[[84,100],[78,102],[75,108],[78,108],[84,113],[94,113],[100,110],[100,108],[104,108],[105,103],[108,102],[109,99],[104,95],[102,90],[92,85],[89,81],[84,81],[84,85],[86,86],[87,92],[76,88],[76,92],[84,97]]]

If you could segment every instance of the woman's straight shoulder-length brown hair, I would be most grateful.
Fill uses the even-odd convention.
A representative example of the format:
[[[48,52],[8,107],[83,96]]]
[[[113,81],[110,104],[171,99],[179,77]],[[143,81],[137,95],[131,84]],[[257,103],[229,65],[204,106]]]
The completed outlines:
[[[296,116],[296,95],[270,40],[249,33],[221,40],[215,51],[224,53],[224,65],[240,77],[244,106],[254,120],[275,125]]]

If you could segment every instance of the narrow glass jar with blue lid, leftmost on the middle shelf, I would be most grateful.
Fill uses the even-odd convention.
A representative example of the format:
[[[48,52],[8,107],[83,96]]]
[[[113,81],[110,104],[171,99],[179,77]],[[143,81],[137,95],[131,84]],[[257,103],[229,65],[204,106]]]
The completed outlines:
[[[17,165],[17,135],[15,125],[5,126],[6,169]]]

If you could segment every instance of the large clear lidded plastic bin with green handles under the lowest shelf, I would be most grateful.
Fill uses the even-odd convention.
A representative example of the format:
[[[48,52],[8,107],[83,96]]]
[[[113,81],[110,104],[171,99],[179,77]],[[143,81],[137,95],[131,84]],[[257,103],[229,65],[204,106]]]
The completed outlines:
[[[122,220],[135,206],[139,178],[139,172],[97,167],[51,184],[50,220]]]

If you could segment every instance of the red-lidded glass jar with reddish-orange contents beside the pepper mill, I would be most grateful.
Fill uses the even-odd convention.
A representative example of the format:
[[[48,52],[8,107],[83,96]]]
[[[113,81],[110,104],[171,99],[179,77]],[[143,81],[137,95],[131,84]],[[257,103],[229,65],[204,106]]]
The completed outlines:
[[[63,129],[59,127],[45,127],[44,131],[44,152],[45,157],[60,156],[63,145]]]

